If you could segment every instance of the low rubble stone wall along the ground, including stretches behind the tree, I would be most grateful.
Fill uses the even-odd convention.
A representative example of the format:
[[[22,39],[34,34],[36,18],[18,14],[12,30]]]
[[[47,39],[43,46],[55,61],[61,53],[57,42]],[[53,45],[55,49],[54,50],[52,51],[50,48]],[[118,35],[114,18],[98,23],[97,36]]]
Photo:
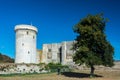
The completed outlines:
[[[115,61],[113,67],[104,67],[104,66],[95,66],[95,70],[103,70],[103,71],[120,71],[120,61]],[[77,66],[77,65],[69,65],[71,69],[79,69],[79,70],[90,70],[90,68],[85,65]],[[37,64],[14,64],[14,63],[6,63],[0,64],[0,74],[14,74],[14,73],[47,73],[45,70],[45,65],[37,65]]]

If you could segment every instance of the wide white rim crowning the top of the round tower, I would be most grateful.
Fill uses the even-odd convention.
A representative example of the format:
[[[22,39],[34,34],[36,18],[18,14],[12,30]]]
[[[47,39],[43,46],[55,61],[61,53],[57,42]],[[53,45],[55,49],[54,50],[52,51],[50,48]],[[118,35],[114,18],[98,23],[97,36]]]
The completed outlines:
[[[35,32],[38,32],[38,29],[35,26],[32,25],[27,25],[27,24],[20,24],[15,26],[15,31],[16,30],[33,30]]]

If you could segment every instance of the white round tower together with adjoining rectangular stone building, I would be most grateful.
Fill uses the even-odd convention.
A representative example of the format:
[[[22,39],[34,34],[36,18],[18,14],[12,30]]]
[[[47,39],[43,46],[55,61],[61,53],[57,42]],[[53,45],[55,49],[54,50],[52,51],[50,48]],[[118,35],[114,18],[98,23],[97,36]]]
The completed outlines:
[[[74,41],[43,44],[42,51],[36,48],[38,30],[32,25],[16,25],[15,63],[61,63],[72,64]]]

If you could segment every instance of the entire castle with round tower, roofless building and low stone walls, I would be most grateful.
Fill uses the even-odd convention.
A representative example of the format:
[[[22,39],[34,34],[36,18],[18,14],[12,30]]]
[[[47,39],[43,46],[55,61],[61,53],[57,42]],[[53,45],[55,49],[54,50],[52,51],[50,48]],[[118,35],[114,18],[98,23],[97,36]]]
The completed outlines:
[[[90,70],[85,65],[75,65],[72,45],[75,41],[63,41],[61,43],[43,44],[42,50],[37,50],[38,30],[32,25],[16,25],[16,55],[15,63],[0,64],[0,74],[14,73],[46,73],[45,65],[39,63],[61,63],[70,68]],[[96,70],[120,70],[120,61],[115,61],[112,68],[102,65],[95,66]]]

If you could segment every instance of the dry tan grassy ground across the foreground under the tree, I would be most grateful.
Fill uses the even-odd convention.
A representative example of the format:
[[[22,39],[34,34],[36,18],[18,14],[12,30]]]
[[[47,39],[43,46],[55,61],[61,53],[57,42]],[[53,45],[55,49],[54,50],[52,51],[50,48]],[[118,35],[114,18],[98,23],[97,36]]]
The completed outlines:
[[[0,80],[120,80],[120,71],[95,71],[94,78],[89,78],[89,71],[0,76]]]

